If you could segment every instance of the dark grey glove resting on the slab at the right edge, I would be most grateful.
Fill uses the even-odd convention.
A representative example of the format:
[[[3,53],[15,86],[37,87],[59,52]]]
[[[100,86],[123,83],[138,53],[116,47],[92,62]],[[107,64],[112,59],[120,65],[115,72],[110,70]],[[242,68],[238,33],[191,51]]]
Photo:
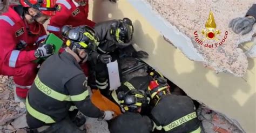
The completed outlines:
[[[228,27],[231,27],[234,33],[242,33],[242,35],[250,32],[255,23],[255,19],[253,17],[239,17],[234,18],[230,21]]]

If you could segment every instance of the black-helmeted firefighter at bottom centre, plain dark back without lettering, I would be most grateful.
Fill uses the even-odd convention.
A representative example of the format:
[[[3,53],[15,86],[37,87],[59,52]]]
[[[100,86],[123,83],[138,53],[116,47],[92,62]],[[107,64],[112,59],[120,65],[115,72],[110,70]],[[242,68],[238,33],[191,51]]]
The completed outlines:
[[[112,133],[146,133],[152,131],[152,121],[148,116],[140,115],[144,104],[147,104],[146,94],[143,90],[132,89],[119,92],[118,99],[124,114],[115,117],[110,123]]]

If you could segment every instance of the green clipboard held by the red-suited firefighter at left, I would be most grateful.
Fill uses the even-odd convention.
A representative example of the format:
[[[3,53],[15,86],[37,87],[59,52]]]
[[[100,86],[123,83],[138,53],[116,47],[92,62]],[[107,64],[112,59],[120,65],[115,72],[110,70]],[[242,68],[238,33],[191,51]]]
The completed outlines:
[[[54,53],[58,53],[59,49],[62,47],[63,45],[63,40],[58,38],[58,36],[56,36],[55,34],[50,33],[47,38],[44,40],[45,44],[52,44],[55,46],[55,52]],[[35,62],[38,63],[39,61],[44,61],[46,60],[47,57],[44,58],[38,58]]]

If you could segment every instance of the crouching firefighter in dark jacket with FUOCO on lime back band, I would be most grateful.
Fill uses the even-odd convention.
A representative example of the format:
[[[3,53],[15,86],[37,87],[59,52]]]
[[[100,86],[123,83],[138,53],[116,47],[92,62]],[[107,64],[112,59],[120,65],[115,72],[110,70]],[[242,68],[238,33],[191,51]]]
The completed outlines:
[[[79,63],[86,62],[87,53],[97,39],[93,29],[83,26],[83,32],[76,34],[71,29],[67,33],[71,39],[79,35],[90,38],[83,42],[68,40],[69,47],[50,56],[39,69],[26,98],[26,121],[32,131],[85,132],[72,122],[78,110],[89,117],[112,119],[113,112],[98,109],[89,98],[87,80]]]

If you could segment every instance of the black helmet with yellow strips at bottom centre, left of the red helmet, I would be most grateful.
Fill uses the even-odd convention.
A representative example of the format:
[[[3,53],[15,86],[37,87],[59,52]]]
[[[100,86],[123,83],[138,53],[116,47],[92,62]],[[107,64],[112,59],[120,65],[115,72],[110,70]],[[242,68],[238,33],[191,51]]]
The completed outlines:
[[[120,106],[129,112],[137,112],[144,104],[147,103],[146,93],[143,90],[130,90],[127,92],[119,92],[118,99]]]

